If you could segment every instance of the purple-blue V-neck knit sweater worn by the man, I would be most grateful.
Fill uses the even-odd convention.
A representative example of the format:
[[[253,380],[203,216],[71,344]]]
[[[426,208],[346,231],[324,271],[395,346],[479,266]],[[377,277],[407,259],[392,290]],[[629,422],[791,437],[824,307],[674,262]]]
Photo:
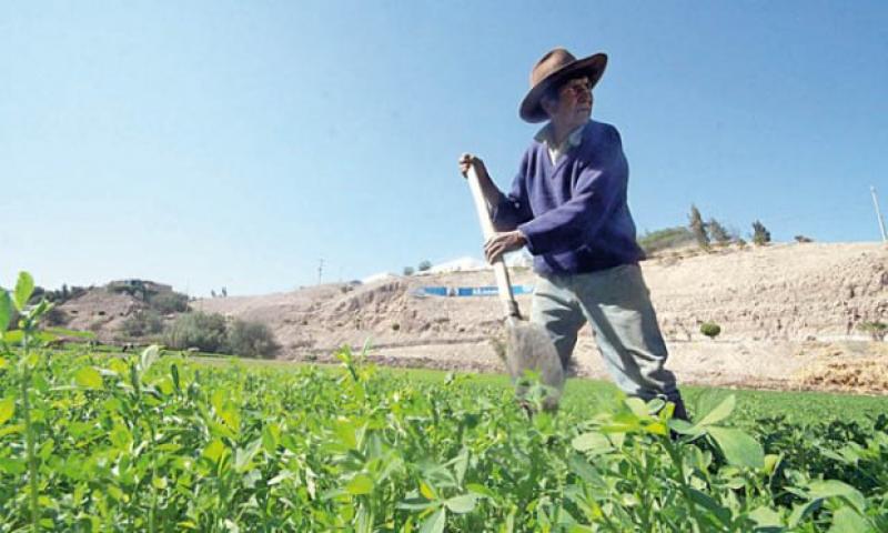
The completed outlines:
[[[579,145],[555,164],[534,141],[508,195],[494,208],[497,230],[527,238],[539,274],[572,274],[636,263],[644,252],[626,203],[629,169],[616,128],[591,120]]]

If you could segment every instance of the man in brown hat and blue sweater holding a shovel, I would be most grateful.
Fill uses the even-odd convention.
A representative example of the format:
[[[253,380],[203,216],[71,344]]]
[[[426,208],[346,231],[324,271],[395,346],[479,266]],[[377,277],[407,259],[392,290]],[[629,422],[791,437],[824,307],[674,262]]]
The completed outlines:
[[[484,244],[487,260],[521,248],[534,255],[531,320],[546,329],[562,364],[588,321],[616,384],[644,400],[668,400],[674,415],[687,420],[638,266],[644,252],[626,203],[619,133],[591,120],[592,89],[606,64],[604,53],[577,60],[556,48],[534,66],[519,115],[547,124],[525,151],[508,195],[481,159],[463,154],[460,170],[474,165],[497,229]]]

